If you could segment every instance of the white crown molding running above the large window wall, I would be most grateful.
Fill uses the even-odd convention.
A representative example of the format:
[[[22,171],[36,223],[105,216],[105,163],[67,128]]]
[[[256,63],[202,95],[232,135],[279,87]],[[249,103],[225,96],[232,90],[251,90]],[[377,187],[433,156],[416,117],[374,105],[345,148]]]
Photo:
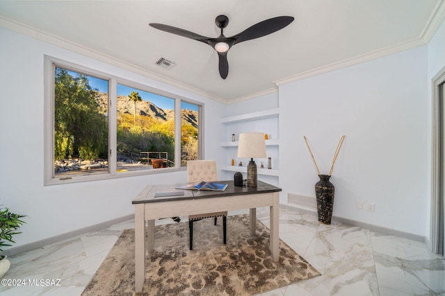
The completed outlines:
[[[220,103],[226,103],[227,101],[223,98],[213,96],[207,92],[202,92],[200,89],[196,89],[194,87],[190,87],[189,85],[185,85],[184,83],[178,82],[177,80],[172,80],[170,78],[166,78],[165,76],[161,76],[159,74],[153,73],[151,71],[147,71],[137,65],[130,64],[128,62],[124,62],[117,58],[113,58],[110,55],[105,55],[104,53],[100,53],[99,51],[95,51],[86,46],[82,46],[80,44],[76,44],[74,42],[70,42],[69,40],[65,40],[61,37],[51,35],[44,31],[37,30],[30,26],[26,26],[17,21],[13,21],[6,17],[0,16],[0,27],[6,28],[15,33],[19,33],[22,35],[26,35],[32,37],[36,40],[40,40],[42,42],[47,42],[49,44],[58,46],[62,49],[66,49],[68,51],[72,51],[74,53],[79,53],[81,55],[85,55],[88,58],[93,58],[95,60],[99,60],[101,62],[106,62],[107,64],[111,64],[115,67],[119,67],[121,69],[131,71],[133,73],[139,74],[140,76],[144,76],[146,78],[150,78],[156,80],[158,82],[165,83],[165,85],[169,85],[171,87],[177,87],[178,89],[184,90],[186,92],[190,92],[192,94],[196,94],[198,96],[203,96],[204,98],[210,98],[213,101],[218,101]]]

